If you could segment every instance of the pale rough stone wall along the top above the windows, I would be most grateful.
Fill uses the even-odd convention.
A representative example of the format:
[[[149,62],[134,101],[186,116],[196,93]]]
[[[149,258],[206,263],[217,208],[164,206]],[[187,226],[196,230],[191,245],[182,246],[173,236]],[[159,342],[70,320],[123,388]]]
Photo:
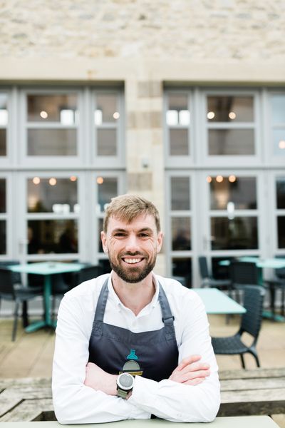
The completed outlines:
[[[284,61],[282,0],[4,0],[0,57]]]

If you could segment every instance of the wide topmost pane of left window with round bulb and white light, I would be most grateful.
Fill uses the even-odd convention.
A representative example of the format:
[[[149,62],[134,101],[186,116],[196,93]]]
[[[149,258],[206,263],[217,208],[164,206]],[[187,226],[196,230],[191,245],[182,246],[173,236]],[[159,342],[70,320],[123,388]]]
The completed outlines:
[[[77,123],[75,94],[28,95],[28,122],[58,122],[63,126]]]

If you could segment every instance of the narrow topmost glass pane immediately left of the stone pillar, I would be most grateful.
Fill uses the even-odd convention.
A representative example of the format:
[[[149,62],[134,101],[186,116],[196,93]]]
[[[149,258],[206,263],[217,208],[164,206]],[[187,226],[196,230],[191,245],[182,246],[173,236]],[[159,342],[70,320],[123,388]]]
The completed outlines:
[[[115,93],[104,93],[96,96],[95,125],[105,122],[115,122],[118,121],[119,117],[120,111],[118,111],[117,96]]]

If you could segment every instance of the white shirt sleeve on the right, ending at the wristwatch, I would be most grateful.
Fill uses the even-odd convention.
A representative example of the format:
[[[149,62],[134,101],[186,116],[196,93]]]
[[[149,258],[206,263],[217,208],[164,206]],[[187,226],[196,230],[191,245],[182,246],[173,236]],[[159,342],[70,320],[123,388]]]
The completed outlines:
[[[200,298],[195,295],[192,302],[185,299],[178,316],[178,322],[184,318],[179,360],[194,354],[202,355],[202,361],[210,365],[211,374],[196,386],[172,382],[169,379],[155,382],[136,377],[129,401],[145,412],[172,422],[211,422],[219,410],[219,378],[209,337],[207,315]]]

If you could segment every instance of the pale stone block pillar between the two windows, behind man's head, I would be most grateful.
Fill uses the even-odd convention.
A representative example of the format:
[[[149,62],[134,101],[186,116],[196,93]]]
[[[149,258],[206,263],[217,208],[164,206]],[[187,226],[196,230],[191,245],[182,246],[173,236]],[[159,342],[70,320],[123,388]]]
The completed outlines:
[[[126,173],[128,193],[151,200],[165,225],[165,164],[162,138],[161,81],[131,76],[125,81]],[[155,272],[165,275],[165,255],[157,256]]]

